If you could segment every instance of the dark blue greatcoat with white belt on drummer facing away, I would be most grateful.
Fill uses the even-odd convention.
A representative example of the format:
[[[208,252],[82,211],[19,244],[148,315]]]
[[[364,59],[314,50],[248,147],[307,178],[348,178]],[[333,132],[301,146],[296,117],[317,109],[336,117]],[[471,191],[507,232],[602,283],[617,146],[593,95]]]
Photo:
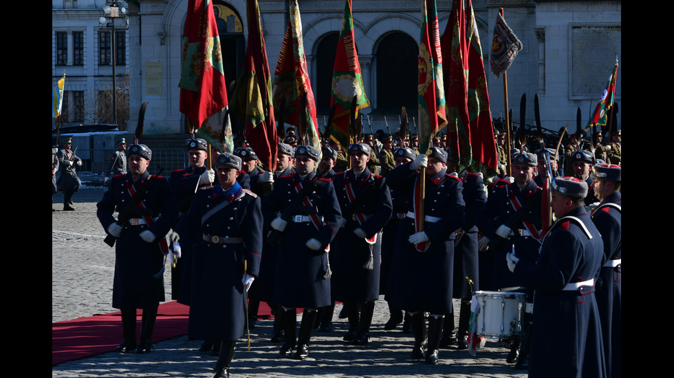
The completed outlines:
[[[545,237],[536,263],[515,265],[514,276],[535,290],[529,377],[606,377],[595,288],[563,290],[598,278],[604,246],[585,209],[566,216],[583,222],[591,238],[563,217]]]

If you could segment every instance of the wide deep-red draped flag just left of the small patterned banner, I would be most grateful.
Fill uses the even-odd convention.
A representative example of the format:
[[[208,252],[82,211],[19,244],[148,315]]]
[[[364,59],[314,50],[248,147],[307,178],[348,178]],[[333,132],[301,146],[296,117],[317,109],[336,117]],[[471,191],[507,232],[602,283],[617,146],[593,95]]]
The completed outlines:
[[[489,110],[482,47],[470,0],[454,0],[440,45],[444,69],[450,159],[458,170],[481,163],[496,171],[497,154]]]

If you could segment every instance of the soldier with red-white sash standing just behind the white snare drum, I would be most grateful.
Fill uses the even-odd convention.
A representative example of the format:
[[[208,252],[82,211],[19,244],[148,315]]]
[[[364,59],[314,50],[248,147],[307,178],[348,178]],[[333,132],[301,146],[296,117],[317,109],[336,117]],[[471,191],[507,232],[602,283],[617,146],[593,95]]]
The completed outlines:
[[[533,178],[536,174],[538,158],[529,152],[519,152],[512,156],[512,176],[514,182],[503,185],[490,194],[487,203],[475,217],[475,223],[485,235],[480,239],[483,249],[489,241],[496,248],[494,254],[494,288],[502,291],[523,291],[533,298],[533,289],[518,289],[521,285],[508,270],[505,255],[515,251],[524,261],[536,263],[541,240],[541,188]],[[530,203],[531,202],[531,203]],[[498,246],[494,247],[494,242]],[[529,299],[531,302],[531,299]],[[525,338],[527,339],[530,314],[525,316]],[[506,362],[517,362],[516,367],[527,369],[528,349],[521,348],[522,342],[514,340]]]

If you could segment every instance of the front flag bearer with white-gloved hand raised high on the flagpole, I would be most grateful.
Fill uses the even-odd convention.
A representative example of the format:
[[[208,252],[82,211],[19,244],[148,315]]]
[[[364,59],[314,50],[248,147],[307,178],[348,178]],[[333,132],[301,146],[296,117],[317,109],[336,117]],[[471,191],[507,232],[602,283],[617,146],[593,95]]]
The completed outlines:
[[[414,211],[398,226],[386,300],[411,314],[412,358],[424,358],[428,346],[428,364],[438,362],[443,314],[452,312],[454,239],[464,224],[463,185],[459,178],[447,174],[446,164],[446,152],[431,147],[428,156],[419,155],[387,176],[389,187],[404,193]],[[425,177],[417,172],[420,167],[426,167]],[[426,180],[423,220],[418,213],[421,180]],[[431,314],[428,332],[424,312]]]

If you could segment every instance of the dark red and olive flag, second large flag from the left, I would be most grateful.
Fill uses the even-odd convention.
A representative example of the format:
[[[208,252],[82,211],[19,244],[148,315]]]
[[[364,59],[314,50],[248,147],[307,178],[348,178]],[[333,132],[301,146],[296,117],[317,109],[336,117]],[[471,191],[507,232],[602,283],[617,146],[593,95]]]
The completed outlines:
[[[232,110],[246,119],[246,140],[265,168],[274,171],[279,138],[276,137],[272,78],[260,25],[260,8],[257,0],[246,1],[246,8],[248,46],[234,90]]]

